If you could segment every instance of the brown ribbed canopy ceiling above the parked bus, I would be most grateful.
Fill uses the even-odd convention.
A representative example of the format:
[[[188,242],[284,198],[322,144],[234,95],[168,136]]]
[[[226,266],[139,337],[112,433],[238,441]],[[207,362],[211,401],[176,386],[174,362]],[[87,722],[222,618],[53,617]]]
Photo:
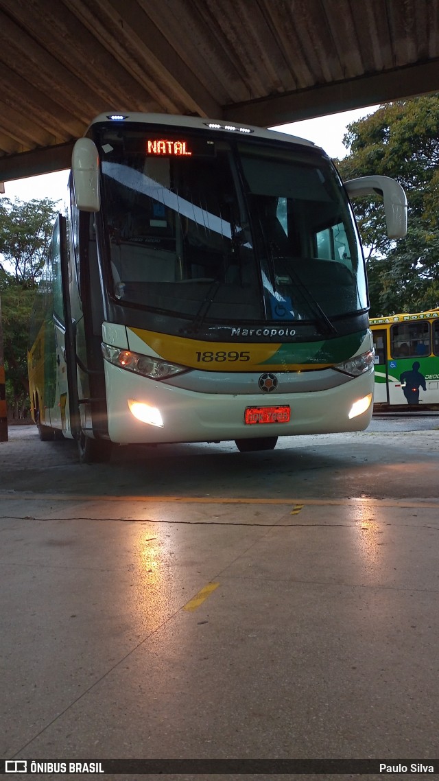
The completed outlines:
[[[0,180],[101,112],[262,127],[439,91],[439,0],[0,0]]]

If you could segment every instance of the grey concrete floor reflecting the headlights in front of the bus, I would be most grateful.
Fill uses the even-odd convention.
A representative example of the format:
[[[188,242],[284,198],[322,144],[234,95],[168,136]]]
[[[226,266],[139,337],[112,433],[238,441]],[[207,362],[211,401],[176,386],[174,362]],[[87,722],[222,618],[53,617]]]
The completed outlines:
[[[91,466],[11,428],[2,757],[439,757],[439,419],[398,421]]]

